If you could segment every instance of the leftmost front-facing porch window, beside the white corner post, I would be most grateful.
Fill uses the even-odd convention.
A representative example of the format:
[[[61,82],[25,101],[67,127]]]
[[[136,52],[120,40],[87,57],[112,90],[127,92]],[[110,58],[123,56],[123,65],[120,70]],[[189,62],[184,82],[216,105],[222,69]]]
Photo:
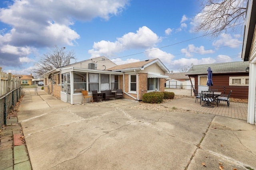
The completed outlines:
[[[86,73],[74,72],[74,93],[86,90]]]

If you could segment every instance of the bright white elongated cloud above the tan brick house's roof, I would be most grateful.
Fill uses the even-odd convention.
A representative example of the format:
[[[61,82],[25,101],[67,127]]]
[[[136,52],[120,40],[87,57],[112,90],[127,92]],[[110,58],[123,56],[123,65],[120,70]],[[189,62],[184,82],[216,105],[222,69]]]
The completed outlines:
[[[156,33],[151,31],[148,27],[143,26],[139,28],[136,33],[130,32],[123,35],[121,38],[117,38],[117,41],[100,41],[94,42],[93,49],[88,51],[92,57],[99,57],[104,55],[106,57],[113,57],[115,53],[128,49],[145,49],[148,47],[156,46],[156,43],[162,41],[162,38],[158,37]]]

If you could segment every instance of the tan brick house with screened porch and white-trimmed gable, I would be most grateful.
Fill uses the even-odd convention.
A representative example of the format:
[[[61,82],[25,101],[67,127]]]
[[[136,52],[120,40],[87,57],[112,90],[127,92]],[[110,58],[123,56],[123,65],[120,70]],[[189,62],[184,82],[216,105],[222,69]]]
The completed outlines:
[[[123,98],[142,100],[146,92],[164,91],[168,72],[159,59],[116,65],[102,56],[44,74],[44,90],[70,104],[82,102],[82,90],[91,95],[92,90],[122,89]]]

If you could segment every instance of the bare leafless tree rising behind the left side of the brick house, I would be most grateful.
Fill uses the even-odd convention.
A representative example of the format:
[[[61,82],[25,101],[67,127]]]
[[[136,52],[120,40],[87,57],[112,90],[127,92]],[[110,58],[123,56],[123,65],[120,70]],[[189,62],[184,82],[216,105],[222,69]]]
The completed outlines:
[[[42,76],[46,72],[70,64],[70,59],[76,60],[75,52],[67,51],[65,47],[60,48],[54,45],[44,54],[37,63],[34,63],[35,70],[31,70],[35,76]]]

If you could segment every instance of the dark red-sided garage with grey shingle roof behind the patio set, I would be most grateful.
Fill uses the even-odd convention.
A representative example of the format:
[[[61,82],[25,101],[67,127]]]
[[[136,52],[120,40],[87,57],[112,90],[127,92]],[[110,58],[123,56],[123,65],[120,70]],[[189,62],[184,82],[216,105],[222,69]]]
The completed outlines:
[[[186,72],[190,78],[195,80],[195,89],[198,92],[207,91],[209,88],[218,89],[222,94],[228,94],[230,90],[232,98],[248,98],[249,72],[246,72],[246,67],[249,62],[230,62],[216,64],[194,65]],[[213,87],[208,87],[207,70],[212,69]]]

